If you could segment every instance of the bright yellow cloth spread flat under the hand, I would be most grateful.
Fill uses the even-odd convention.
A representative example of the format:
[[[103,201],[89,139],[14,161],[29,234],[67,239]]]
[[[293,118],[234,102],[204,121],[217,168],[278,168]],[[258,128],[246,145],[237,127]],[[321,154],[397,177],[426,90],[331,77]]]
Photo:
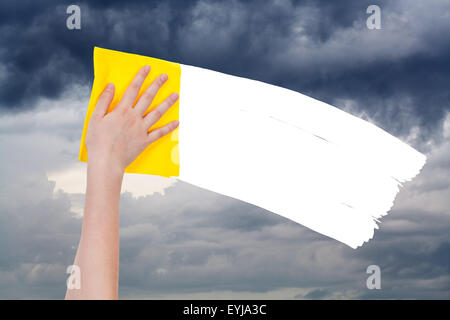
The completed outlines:
[[[147,89],[150,83],[157,76],[166,73],[169,78],[163,87],[159,90],[155,99],[146,114],[159,105],[172,92],[180,92],[181,68],[178,63],[168,62],[155,58],[144,57],[136,54],[123,53],[114,50],[94,48],[94,84],[92,86],[91,98],[84,121],[83,134],[80,146],[80,161],[87,162],[87,149],[85,144],[86,131],[92,112],[97,104],[98,97],[109,82],[114,83],[116,87],[114,100],[110,109],[115,108],[122,98],[126,88],[131,83],[136,73],[144,65],[150,65],[150,74],[145,80],[139,97]],[[138,97],[138,99],[139,99]],[[137,101],[137,100],[136,100]],[[165,124],[179,120],[178,101],[161,117],[161,119],[152,127],[160,128]],[[179,175],[179,156],[178,156],[178,129],[172,134],[162,137],[158,141],[148,146],[125,170],[128,173],[144,173],[160,175],[164,177]]]

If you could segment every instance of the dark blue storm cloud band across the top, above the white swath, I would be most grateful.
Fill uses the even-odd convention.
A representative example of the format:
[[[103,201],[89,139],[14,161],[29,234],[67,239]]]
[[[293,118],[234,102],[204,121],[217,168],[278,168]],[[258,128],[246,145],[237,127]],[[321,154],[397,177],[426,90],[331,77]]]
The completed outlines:
[[[370,1],[78,2],[77,31],[65,27],[69,4],[2,2],[4,110],[89,84],[95,45],[262,80],[338,107],[351,100],[394,134],[418,125],[428,135],[450,108],[445,2],[424,11],[420,2],[380,1],[377,31],[365,27]]]

